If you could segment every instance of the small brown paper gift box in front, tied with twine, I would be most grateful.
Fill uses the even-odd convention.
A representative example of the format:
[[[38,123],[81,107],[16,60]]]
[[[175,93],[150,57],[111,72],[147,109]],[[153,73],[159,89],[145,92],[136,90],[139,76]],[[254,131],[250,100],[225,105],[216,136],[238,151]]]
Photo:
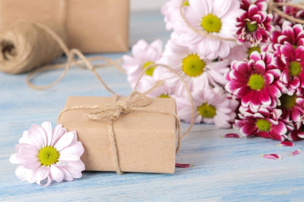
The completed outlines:
[[[125,97],[119,98],[123,100]],[[79,105],[112,103],[113,97],[69,96],[66,108]],[[176,113],[172,98],[152,98],[145,108]],[[84,117],[91,109],[62,113],[58,124],[68,131],[76,130],[84,145],[81,159],[86,171],[115,171],[113,151],[105,121]],[[113,131],[121,171],[173,173],[175,169],[176,120],[158,112],[134,112],[113,121]]]

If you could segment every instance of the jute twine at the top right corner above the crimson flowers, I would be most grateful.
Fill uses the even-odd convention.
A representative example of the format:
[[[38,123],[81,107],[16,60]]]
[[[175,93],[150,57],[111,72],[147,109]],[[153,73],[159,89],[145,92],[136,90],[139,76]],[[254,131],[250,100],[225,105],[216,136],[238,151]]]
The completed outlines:
[[[269,0],[269,3],[268,3],[268,13],[274,12],[274,13],[277,13],[279,16],[286,18],[289,21],[300,23],[300,24],[304,24],[304,20],[303,19],[297,19],[295,17],[288,16],[283,11],[280,11],[277,8],[278,6],[290,6],[290,7],[294,7],[294,8],[304,9],[304,5],[303,4],[290,3],[290,2],[279,3],[279,2],[273,2],[273,0]]]

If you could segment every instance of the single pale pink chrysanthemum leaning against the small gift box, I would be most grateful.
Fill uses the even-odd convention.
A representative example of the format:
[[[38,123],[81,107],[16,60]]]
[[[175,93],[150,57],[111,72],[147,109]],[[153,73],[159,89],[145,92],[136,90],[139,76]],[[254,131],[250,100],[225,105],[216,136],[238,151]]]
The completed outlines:
[[[16,176],[20,180],[44,186],[51,181],[72,181],[80,178],[84,171],[84,163],[80,156],[84,147],[77,141],[76,131],[68,132],[61,124],[52,130],[50,122],[39,125],[33,124],[23,132],[22,138],[16,145],[17,153],[11,155],[10,162],[20,164]]]

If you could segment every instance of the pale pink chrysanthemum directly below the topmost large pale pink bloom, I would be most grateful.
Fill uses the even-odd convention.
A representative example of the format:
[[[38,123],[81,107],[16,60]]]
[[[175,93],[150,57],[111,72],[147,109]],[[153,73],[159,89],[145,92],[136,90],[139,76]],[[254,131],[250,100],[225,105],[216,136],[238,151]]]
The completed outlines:
[[[164,56],[159,61],[167,64],[184,78],[191,91],[200,91],[206,86],[219,86],[227,83],[223,76],[229,72],[229,60],[210,61],[188,47],[180,46],[170,40]],[[170,86],[175,86],[176,93],[186,92],[181,79],[172,71],[159,66],[155,69],[154,79],[165,79]]]

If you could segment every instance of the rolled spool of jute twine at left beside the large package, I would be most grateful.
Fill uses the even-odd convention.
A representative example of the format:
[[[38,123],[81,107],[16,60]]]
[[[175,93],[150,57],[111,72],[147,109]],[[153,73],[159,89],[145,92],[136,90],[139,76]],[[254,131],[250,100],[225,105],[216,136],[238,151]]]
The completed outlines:
[[[38,21],[64,42],[64,28],[52,20]],[[0,33],[0,71],[9,74],[29,72],[63,54],[58,42],[37,24],[20,20]]]

